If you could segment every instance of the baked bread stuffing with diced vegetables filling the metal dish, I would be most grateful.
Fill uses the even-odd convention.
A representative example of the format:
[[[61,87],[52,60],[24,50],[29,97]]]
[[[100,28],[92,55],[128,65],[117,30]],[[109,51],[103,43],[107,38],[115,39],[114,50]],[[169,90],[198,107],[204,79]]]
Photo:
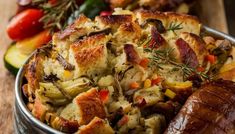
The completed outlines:
[[[29,110],[67,133],[163,133],[202,85],[235,80],[231,43],[200,29],[171,12],[81,15],[28,62]]]

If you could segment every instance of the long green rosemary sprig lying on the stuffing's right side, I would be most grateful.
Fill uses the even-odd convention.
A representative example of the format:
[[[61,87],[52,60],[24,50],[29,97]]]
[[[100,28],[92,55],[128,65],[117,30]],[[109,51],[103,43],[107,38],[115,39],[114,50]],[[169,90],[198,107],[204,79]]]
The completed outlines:
[[[188,66],[187,64],[176,62],[176,60],[173,57],[171,57],[172,52],[174,51],[173,48],[164,49],[164,50],[154,50],[152,48],[147,47],[144,50],[146,52],[152,53],[152,57],[150,57],[150,60],[152,61],[154,65],[156,65],[160,69],[163,69],[160,65],[171,64],[171,65],[174,65],[175,70],[182,71],[184,78],[188,78],[191,75],[195,74],[203,80],[212,79],[209,75],[207,75],[204,72],[198,72],[195,68],[192,68]]]

